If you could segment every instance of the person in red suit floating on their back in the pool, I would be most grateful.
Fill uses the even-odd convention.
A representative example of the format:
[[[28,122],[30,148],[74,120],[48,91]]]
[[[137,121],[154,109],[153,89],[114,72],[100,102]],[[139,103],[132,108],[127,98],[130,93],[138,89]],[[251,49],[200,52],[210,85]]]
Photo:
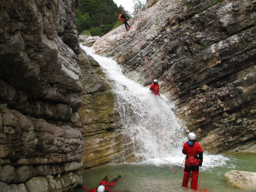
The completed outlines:
[[[100,186],[94,189],[87,189],[82,185],[77,185],[78,188],[81,188],[85,191],[89,192],[110,192],[111,188],[115,186],[115,184],[118,182],[118,180],[121,178],[119,175],[117,178],[114,178],[111,182],[108,182],[108,176],[105,176],[104,179],[100,182]],[[122,190],[122,191],[112,191],[112,192],[130,192],[129,190]]]

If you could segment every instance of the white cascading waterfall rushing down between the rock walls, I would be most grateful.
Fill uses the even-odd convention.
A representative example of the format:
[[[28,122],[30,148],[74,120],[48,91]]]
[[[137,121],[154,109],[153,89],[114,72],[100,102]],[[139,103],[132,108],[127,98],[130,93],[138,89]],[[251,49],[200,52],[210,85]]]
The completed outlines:
[[[184,160],[182,146],[188,130],[175,116],[175,106],[164,95],[153,96],[149,86],[144,87],[122,73],[122,68],[112,59],[94,54],[91,48],[80,47],[96,60],[110,80],[110,86],[116,94],[116,109],[120,114],[122,133],[133,143],[134,153],[146,157],[146,163],[166,164],[159,158],[161,134],[158,114],[162,128],[161,158],[172,164],[181,164]],[[161,85],[160,85],[161,86]],[[215,164],[225,164],[228,158],[218,155],[205,156]],[[213,165],[209,161],[209,167]]]

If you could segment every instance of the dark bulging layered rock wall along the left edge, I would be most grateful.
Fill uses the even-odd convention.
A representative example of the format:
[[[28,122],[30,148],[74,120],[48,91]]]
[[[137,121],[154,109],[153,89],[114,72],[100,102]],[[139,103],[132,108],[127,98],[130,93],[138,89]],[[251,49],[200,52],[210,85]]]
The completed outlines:
[[[82,182],[79,0],[0,2],[0,191]]]

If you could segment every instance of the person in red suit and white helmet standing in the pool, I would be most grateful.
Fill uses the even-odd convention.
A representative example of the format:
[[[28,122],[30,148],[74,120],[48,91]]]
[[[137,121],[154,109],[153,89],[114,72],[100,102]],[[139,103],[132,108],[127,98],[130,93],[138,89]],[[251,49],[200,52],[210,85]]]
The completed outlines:
[[[197,189],[199,166],[203,163],[203,151],[194,133],[188,134],[188,142],[184,143],[182,153],[186,155],[182,187],[188,187],[188,180],[192,171],[191,189]]]

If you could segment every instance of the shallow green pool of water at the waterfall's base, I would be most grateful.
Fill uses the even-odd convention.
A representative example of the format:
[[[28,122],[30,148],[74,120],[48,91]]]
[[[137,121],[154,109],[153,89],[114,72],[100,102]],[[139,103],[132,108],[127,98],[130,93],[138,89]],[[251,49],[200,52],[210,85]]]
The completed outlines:
[[[202,179],[200,188],[210,189],[212,192],[242,192],[228,186],[224,179],[224,174],[230,170],[240,170],[256,172],[256,154],[228,154],[223,155],[230,160],[226,165],[214,168],[202,166]],[[184,167],[184,165],[183,165]],[[112,189],[130,190],[131,192],[185,192],[181,187],[183,178],[183,167],[177,173],[170,170],[170,166],[153,164],[106,164],[84,170],[83,186],[86,188],[96,188],[104,176],[108,176],[109,181],[121,175],[119,182]],[[178,170],[179,166],[174,166]],[[200,176],[199,176],[200,177]],[[198,177],[198,182],[199,182]],[[82,189],[75,189],[81,192]]]

